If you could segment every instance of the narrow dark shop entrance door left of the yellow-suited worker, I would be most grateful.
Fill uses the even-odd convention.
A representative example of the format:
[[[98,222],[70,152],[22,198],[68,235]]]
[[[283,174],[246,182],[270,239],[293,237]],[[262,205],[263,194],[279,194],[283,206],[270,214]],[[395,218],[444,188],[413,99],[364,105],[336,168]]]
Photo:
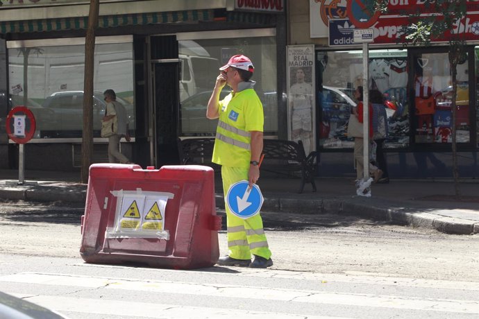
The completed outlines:
[[[176,36],[151,37],[151,105],[155,166],[179,164],[178,42]]]

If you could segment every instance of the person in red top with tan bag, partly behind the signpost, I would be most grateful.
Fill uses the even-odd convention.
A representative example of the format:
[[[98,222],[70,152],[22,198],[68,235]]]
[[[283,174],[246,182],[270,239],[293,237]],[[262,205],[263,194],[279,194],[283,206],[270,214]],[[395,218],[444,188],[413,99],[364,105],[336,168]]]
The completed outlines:
[[[362,133],[363,122],[363,105],[362,105],[362,86],[356,88],[354,97],[359,101],[356,107],[353,107],[353,112],[348,122],[348,136],[354,137],[354,160],[356,166],[356,184],[364,177],[364,136]],[[373,107],[369,103],[369,139],[372,141],[373,127],[372,127]],[[351,127],[350,127],[351,126]],[[372,148],[369,148],[371,151]],[[383,175],[383,171],[378,167],[369,163],[369,173],[373,175],[374,182],[377,182]]]

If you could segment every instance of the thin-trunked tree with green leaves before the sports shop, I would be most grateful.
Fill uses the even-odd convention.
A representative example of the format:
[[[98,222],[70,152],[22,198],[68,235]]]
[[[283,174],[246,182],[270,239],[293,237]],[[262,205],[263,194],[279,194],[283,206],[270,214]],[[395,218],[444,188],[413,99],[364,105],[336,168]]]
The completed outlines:
[[[387,13],[388,0],[368,0],[368,8],[374,8]],[[466,32],[467,1],[464,0],[423,0],[422,6],[416,6],[412,11],[404,12],[408,24],[401,29],[399,41],[405,46],[430,46],[431,42],[448,42],[448,60],[451,67],[452,101],[451,101],[451,131],[453,154],[453,178],[455,196],[460,196],[459,171],[457,169],[456,142],[456,95],[457,95],[457,64],[467,58]],[[433,12],[424,14],[424,12]]]

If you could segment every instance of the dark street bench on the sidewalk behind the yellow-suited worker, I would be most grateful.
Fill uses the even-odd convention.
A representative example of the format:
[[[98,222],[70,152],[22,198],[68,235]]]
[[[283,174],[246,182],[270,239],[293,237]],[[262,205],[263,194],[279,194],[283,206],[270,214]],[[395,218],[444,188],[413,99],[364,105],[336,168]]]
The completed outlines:
[[[178,139],[181,164],[206,165],[219,171],[220,166],[211,162],[213,146],[215,146],[214,137]],[[261,163],[262,171],[288,176],[292,176],[292,173],[299,173],[301,176],[299,193],[303,192],[306,183],[310,183],[312,191],[316,191],[314,182],[316,151],[306,155],[301,141],[296,143],[283,139],[264,139],[262,154],[264,154]]]

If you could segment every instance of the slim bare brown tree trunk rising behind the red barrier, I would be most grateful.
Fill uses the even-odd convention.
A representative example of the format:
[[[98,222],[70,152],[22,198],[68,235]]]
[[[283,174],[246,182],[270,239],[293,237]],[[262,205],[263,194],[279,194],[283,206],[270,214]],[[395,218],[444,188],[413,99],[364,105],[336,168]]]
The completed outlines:
[[[83,87],[83,135],[81,144],[81,182],[88,182],[88,170],[93,153],[93,75],[95,30],[98,26],[99,0],[90,0],[87,34],[85,37],[85,78]]]

